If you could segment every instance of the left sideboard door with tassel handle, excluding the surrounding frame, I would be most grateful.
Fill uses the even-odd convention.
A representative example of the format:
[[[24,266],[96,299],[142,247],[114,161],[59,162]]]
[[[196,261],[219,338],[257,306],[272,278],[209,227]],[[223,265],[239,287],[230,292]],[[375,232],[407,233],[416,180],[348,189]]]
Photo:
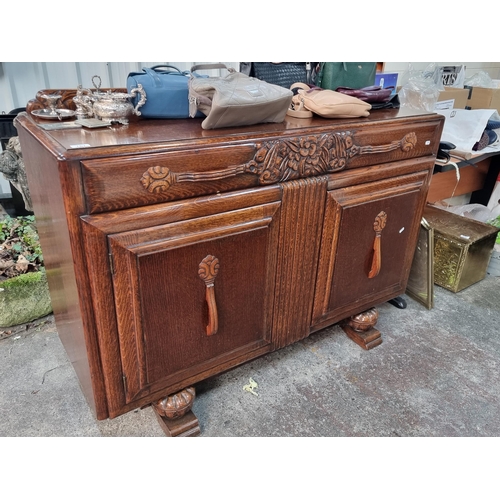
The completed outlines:
[[[126,403],[270,350],[279,205],[108,236]]]

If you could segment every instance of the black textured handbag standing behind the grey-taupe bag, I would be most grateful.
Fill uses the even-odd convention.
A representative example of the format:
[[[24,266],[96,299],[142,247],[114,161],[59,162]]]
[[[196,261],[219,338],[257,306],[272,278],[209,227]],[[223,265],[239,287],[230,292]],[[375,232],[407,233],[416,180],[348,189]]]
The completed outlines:
[[[314,83],[316,63],[253,62],[241,63],[240,71],[267,83],[289,89],[294,83]]]

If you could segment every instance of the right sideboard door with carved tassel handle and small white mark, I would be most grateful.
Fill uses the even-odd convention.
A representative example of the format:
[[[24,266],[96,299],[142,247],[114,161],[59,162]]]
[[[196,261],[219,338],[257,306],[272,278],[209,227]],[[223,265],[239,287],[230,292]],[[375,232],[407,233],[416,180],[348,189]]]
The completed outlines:
[[[404,292],[428,175],[419,172],[328,193],[313,329]]]

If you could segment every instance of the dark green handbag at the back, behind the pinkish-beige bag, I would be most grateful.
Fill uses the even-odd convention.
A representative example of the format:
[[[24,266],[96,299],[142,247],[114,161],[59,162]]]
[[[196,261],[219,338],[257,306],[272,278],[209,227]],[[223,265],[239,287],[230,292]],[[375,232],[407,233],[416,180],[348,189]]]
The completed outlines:
[[[375,84],[377,63],[327,63],[320,65],[316,85],[322,89],[338,87],[362,89]]]

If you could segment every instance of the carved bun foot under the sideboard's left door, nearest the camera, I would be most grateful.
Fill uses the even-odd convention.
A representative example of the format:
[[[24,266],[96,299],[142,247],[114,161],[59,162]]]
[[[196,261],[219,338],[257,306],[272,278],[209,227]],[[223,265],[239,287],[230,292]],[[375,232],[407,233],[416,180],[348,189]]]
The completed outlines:
[[[195,398],[194,387],[158,400],[153,404],[158,422],[169,437],[189,437],[200,434],[200,425],[191,411]]]

